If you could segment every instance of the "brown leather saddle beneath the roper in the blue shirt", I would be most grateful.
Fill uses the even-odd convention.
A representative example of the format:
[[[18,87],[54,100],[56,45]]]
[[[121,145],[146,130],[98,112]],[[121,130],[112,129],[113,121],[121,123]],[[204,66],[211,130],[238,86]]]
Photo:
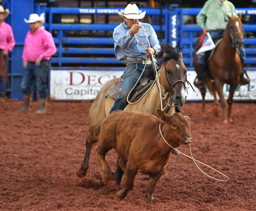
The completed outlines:
[[[143,94],[145,94],[145,92],[150,88],[150,86],[153,84],[154,80],[144,77],[139,81],[139,85],[133,90],[131,97],[129,99],[130,102],[135,102],[137,101],[140,97],[143,96]],[[119,95],[120,95],[120,91],[122,89],[123,86],[123,82],[117,81],[114,86],[112,86],[109,90],[108,90],[108,96],[112,97],[114,100],[116,100]]]

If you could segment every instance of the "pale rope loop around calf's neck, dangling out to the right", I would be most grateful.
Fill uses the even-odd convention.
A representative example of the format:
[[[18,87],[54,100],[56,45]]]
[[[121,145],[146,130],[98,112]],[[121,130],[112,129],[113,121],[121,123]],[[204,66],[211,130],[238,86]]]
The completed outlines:
[[[188,120],[188,122],[189,122],[189,135],[190,135],[190,119],[189,119],[188,116],[184,116],[184,117],[185,117],[185,118]],[[163,134],[162,134],[162,132],[161,132],[161,123],[159,124],[159,131],[160,131],[160,134],[161,134],[162,138],[164,139],[165,143],[166,143],[168,146],[170,146],[171,148],[173,148],[173,149],[177,150],[178,152],[180,152],[177,148],[172,147],[172,146],[165,140],[165,138],[164,138],[164,136],[163,136]],[[223,175],[223,176],[226,177],[227,179],[226,179],[226,180],[220,180],[220,179],[214,178],[214,177],[212,177],[212,176],[206,174],[206,173],[205,173],[202,169],[200,169],[199,166],[196,164],[197,168],[198,168],[203,174],[205,174],[206,176],[208,176],[208,177],[210,177],[210,178],[212,178],[212,179],[215,179],[215,180],[218,180],[218,181],[221,181],[221,182],[226,182],[226,181],[229,180],[229,178],[228,178],[225,174],[219,172],[218,170],[212,168],[211,166],[208,166],[208,165],[206,165],[206,164],[200,162],[199,160],[194,159],[194,158],[193,158],[193,155],[192,155],[192,152],[191,152],[190,144],[189,144],[189,149],[190,149],[191,157],[188,156],[188,155],[186,155],[186,154],[184,154],[184,153],[182,153],[182,152],[180,152],[180,153],[183,154],[183,155],[185,155],[186,157],[192,159],[195,164],[196,164],[196,162],[201,163],[201,164],[203,164],[203,165],[209,167],[210,169],[212,169],[212,170],[214,170],[214,171],[220,173],[221,175]]]

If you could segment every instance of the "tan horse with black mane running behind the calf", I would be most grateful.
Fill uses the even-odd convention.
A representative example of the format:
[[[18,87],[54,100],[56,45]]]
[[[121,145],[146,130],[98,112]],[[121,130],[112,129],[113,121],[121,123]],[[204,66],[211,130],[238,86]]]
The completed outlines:
[[[163,64],[158,72],[160,85],[155,82],[151,89],[139,101],[133,104],[128,104],[124,109],[125,111],[146,112],[156,116],[156,109],[161,109],[161,101],[163,108],[166,107],[167,104],[175,104],[177,107],[184,105],[186,99],[185,82],[187,79],[187,69],[183,63],[181,52],[176,51],[169,45],[162,45],[162,50],[158,56],[163,57]],[[112,79],[106,83],[96,96],[89,110],[89,129],[93,125],[101,125],[106,116],[109,115],[109,111],[114,104],[114,100],[109,96],[105,98],[105,96],[107,96],[109,88],[118,80],[120,80],[120,78]],[[161,90],[162,99],[160,99],[159,88]],[[174,107],[171,107],[168,114],[171,115],[173,113],[175,113],[175,109]],[[91,148],[97,141],[97,138],[86,140],[84,161],[81,168],[76,172],[76,175],[80,178],[86,175],[89,167]]]

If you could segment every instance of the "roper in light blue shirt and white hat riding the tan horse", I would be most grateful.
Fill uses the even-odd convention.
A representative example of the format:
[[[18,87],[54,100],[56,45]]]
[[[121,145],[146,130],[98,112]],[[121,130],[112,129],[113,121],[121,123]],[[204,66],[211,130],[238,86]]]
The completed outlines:
[[[150,58],[151,52],[156,54],[161,50],[153,27],[148,23],[138,21],[144,18],[145,13],[146,11],[139,13],[136,4],[128,4],[124,9],[124,14],[118,11],[124,22],[117,26],[113,32],[115,56],[119,61],[126,64],[126,69],[123,73],[123,86],[120,95],[112,106],[110,113],[115,110],[123,110],[126,107],[128,104],[127,96],[140,77],[145,63],[147,65],[142,77],[147,76],[151,69],[151,60],[147,60]],[[142,27],[146,30],[151,48]]]

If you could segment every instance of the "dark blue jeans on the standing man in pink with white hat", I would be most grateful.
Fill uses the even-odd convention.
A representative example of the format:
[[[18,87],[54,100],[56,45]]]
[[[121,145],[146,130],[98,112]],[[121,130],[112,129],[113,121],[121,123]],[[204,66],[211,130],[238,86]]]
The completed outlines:
[[[23,70],[23,78],[21,82],[23,95],[31,94],[31,88],[36,80],[39,98],[45,99],[48,97],[48,66],[48,60],[42,60],[39,66],[36,66],[35,62],[28,62],[27,67]]]

